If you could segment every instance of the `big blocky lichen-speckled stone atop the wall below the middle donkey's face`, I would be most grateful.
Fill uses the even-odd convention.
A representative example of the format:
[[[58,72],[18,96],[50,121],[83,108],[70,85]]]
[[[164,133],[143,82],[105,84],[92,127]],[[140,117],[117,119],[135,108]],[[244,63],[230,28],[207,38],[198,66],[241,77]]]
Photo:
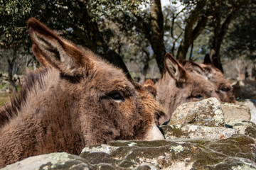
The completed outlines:
[[[183,103],[171,116],[169,125],[204,125],[218,127],[225,125],[224,115],[217,98]]]

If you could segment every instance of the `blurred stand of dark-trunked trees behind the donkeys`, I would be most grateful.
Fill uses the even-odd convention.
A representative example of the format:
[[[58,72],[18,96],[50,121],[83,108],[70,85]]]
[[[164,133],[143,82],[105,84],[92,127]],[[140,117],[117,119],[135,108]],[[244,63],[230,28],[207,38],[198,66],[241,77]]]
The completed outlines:
[[[38,67],[26,30],[30,17],[122,68],[127,77],[134,63],[141,81],[152,64],[159,75],[164,72],[166,52],[193,61],[208,53],[220,69],[225,58],[255,59],[255,0],[169,0],[164,7],[160,0],[0,0],[0,15],[1,70],[8,70],[14,86],[13,74]]]

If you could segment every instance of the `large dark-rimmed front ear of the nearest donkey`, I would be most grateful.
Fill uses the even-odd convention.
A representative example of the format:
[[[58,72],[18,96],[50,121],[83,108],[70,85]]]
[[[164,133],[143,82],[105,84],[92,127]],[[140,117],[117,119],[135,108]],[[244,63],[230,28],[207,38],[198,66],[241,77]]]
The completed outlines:
[[[36,45],[36,50],[41,53],[36,52],[36,57],[45,59],[48,64],[70,76],[81,74],[82,67],[90,68],[90,60],[78,47],[55,35],[43,23],[30,18],[27,27],[31,40]]]

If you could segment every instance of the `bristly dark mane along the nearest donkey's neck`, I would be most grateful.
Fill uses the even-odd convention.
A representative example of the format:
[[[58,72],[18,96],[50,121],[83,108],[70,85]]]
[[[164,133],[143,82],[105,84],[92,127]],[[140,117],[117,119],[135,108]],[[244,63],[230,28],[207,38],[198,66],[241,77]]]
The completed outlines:
[[[21,111],[21,105],[26,103],[26,98],[28,96],[28,93],[34,89],[35,92],[38,90],[34,88],[36,84],[38,85],[39,89],[43,89],[44,86],[46,86],[46,81],[43,79],[43,77],[48,74],[51,67],[46,68],[40,68],[36,70],[36,72],[29,72],[26,74],[25,77],[25,83],[21,87],[21,91],[14,95],[11,98],[11,101],[9,103],[6,103],[4,106],[0,108],[0,128],[11,118],[16,116],[18,114],[18,111]]]

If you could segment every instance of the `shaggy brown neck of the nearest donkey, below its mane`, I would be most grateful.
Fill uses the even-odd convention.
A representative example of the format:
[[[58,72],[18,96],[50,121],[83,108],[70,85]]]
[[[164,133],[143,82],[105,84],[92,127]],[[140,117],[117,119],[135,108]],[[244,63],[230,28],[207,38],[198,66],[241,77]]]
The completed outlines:
[[[13,163],[11,160],[16,157],[23,159],[39,153],[80,153],[84,142],[74,125],[75,115],[70,114],[73,108],[68,101],[72,96],[63,91],[58,77],[59,72],[50,69],[49,74],[40,78],[43,84],[34,82],[27,91],[26,102],[21,102],[16,115],[0,129],[0,162],[1,157],[9,157],[9,162],[3,164]],[[6,155],[4,148],[13,150]]]

